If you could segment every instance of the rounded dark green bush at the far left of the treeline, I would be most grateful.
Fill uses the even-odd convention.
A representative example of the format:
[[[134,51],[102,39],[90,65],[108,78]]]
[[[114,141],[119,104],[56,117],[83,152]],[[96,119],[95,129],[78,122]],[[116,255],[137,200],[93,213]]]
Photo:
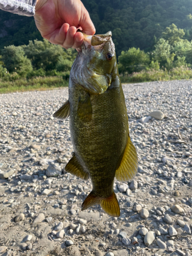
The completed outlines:
[[[7,46],[2,50],[2,61],[6,69],[10,72],[16,72],[19,76],[26,76],[32,71],[31,61],[25,56],[21,46]]]

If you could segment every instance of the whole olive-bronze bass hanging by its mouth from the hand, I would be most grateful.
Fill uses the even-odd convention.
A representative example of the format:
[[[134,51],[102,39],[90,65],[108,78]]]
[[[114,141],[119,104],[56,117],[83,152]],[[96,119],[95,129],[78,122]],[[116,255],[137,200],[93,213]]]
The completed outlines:
[[[70,72],[69,99],[53,116],[70,117],[74,152],[66,172],[92,181],[92,191],[81,210],[100,204],[106,214],[119,217],[114,179],[132,180],[137,174],[138,156],[129,134],[111,31],[84,34]]]

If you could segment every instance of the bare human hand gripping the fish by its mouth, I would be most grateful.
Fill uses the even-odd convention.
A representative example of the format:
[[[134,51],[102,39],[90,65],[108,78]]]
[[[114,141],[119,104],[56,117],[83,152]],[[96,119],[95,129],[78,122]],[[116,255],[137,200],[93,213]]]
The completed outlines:
[[[37,0],[35,24],[42,37],[63,48],[79,48],[83,34],[95,34],[89,13],[80,0]]]

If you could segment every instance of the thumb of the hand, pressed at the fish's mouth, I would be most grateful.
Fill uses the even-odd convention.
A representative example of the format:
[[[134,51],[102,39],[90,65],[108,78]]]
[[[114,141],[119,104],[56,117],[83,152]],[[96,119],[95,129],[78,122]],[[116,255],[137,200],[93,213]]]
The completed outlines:
[[[95,34],[95,27],[92,23],[90,15],[87,10],[84,10],[84,13],[81,15],[82,19],[80,21],[80,27],[82,28],[82,32],[87,35]]]

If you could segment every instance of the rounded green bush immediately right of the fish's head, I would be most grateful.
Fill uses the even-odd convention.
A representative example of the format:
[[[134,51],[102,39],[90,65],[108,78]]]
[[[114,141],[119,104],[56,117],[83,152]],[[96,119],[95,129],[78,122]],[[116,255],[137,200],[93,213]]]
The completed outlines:
[[[130,48],[128,51],[122,51],[118,57],[119,72],[131,74],[145,69],[150,63],[150,57],[139,48]]]

